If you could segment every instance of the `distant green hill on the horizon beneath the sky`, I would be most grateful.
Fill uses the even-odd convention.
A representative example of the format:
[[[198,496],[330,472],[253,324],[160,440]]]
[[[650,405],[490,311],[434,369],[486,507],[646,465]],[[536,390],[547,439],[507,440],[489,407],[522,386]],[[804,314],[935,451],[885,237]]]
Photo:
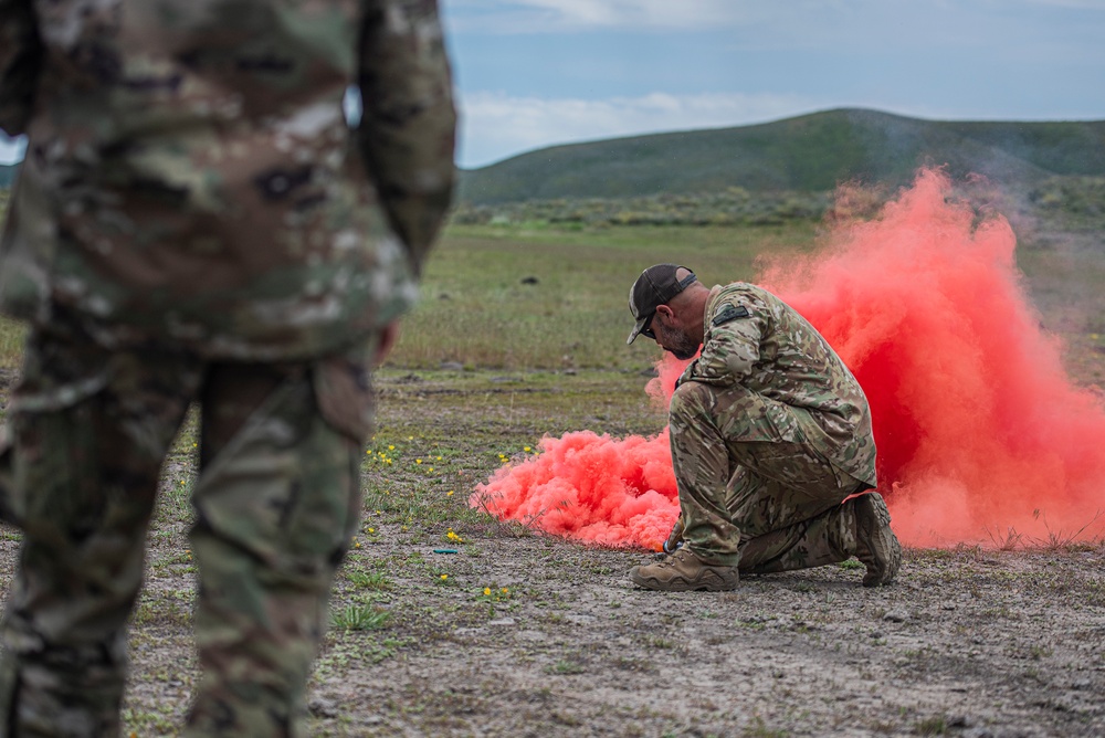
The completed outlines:
[[[924,164],[953,176],[1031,184],[1105,176],[1105,120],[967,123],[839,109],[775,123],[556,146],[461,172],[460,200],[491,204],[623,198],[743,187],[825,191],[838,182],[905,183]]]

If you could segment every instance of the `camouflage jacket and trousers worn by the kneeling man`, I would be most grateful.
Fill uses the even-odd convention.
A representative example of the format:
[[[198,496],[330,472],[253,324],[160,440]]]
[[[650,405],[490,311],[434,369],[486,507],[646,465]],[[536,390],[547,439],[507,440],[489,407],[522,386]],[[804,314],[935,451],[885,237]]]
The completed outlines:
[[[744,283],[711,291],[671,437],[683,535],[701,560],[762,573],[855,552],[855,514],[841,502],[875,485],[866,399],[775,295]]]

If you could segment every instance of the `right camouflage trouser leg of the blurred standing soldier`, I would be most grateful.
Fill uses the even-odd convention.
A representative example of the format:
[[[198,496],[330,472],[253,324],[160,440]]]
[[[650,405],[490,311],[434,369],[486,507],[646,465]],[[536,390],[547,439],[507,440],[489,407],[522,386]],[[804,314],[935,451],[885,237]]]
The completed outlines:
[[[359,523],[371,393],[349,380],[365,377],[340,361],[283,377],[223,367],[204,389],[191,533],[203,676],[186,736],[302,735],[327,595]]]

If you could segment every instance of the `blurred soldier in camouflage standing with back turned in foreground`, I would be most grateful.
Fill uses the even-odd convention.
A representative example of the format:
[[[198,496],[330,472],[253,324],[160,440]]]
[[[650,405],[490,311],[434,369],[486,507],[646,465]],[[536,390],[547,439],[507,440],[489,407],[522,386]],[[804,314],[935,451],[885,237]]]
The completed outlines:
[[[199,401],[185,735],[298,734],[370,363],[449,204],[454,124],[435,0],[0,0],[0,126],[29,137],[0,304],[31,327],[0,732],[118,732],[158,473]]]

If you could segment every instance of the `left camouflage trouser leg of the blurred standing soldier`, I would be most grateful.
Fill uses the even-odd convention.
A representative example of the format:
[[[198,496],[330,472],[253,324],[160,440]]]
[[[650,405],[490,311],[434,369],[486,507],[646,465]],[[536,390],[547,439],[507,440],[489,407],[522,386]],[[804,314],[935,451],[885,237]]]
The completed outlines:
[[[199,378],[175,357],[28,338],[7,429],[23,544],[2,625],[0,735],[118,734],[158,474]]]

